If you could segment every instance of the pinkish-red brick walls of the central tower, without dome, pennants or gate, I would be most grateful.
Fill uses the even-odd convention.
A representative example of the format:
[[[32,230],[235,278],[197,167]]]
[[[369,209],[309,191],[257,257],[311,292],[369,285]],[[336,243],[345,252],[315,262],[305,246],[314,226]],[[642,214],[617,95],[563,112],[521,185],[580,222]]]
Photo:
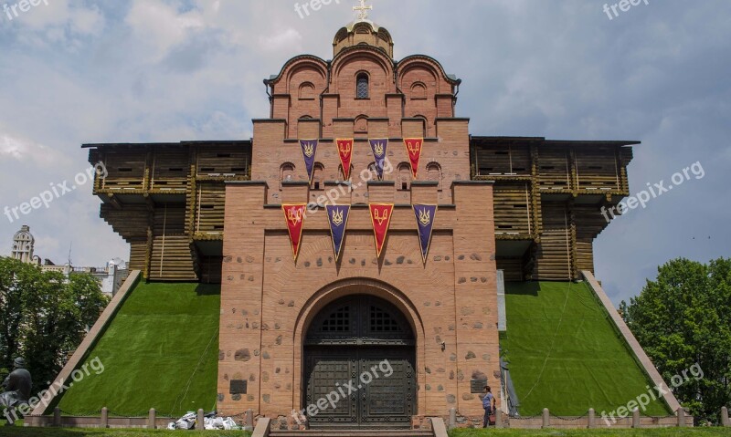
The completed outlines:
[[[223,414],[251,408],[270,417],[302,409],[302,333],[328,302],[367,293],[391,301],[413,324],[417,415],[443,416],[450,408],[479,415],[482,404],[470,393],[471,378],[484,375],[497,384],[499,377],[497,287],[493,188],[467,182],[469,121],[452,118],[452,83],[430,58],[409,57],[394,71],[382,51],[349,48],[335,57],[329,84],[327,68],[313,57],[285,66],[271,86],[275,120],[254,122],[255,182],[227,187],[218,408]],[[370,77],[365,100],[355,99],[355,77],[361,71]],[[300,99],[303,83],[313,84],[314,99],[312,94]],[[421,84],[425,89],[419,89]],[[301,120],[304,115],[319,119],[321,113],[323,120]],[[361,115],[370,120],[361,122],[365,131],[356,132],[355,119]],[[417,180],[429,180],[427,167],[436,163],[437,184],[409,183],[401,191],[400,183],[367,183],[371,176],[365,171],[374,157],[366,138],[391,138],[391,172],[384,179],[396,182],[397,165],[408,162],[401,139],[422,136],[427,139]],[[296,139],[318,137],[316,161],[323,165],[323,182],[342,178],[334,139],[355,137],[352,192],[341,195],[346,186],[324,183],[318,191],[281,183],[284,162],[296,166],[295,182],[308,180]],[[279,205],[327,203],[328,194],[344,204],[397,203],[381,259],[376,259],[368,209],[355,207],[340,265],[334,261],[322,209],[306,218],[302,253],[293,260]],[[411,203],[440,204],[426,265]],[[248,394],[240,399],[229,395],[230,380],[249,380]]]

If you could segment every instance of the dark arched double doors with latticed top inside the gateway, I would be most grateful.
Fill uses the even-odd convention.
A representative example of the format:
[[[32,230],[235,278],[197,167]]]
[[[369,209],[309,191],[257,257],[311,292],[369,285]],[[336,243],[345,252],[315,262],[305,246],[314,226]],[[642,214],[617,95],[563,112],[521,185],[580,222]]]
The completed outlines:
[[[310,426],[410,428],[415,358],[411,326],[386,300],[354,295],[323,307],[304,340]]]

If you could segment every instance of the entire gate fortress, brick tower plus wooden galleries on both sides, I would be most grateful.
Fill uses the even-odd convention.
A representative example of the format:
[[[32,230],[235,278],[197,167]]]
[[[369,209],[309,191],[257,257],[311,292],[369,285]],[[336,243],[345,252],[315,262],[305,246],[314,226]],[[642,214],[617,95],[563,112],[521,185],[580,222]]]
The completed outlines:
[[[455,117],[461,81],[431,57],[394,60],[390,34],[365,19],[337,32],[332,60],[294,57],[265,84],[270,118],[253,121],[253,140],[84,146],[108,169],[94,190],[131,268],[221,283],[219,411],[289,418],[388,359],[393,374],[378,370],[311,423],[481,416],[472,383],[500,386],[497,270],[593,270],[601,208],[629,194],[636,143],[471,137]],[[335,140],[351,138],[352,177],[338,182]],[[369,138],[390,139],[384,181],[361,179]],[[417,178],[404,138],[425,139]],[[299,139],[320,140],[312,182]],[[281,205],[328,193],[352,205],[340,261],[322,206],[293,260]],[[377,258],[368,203],[396,204]],[[415,203],[439,204],[426,263]]]

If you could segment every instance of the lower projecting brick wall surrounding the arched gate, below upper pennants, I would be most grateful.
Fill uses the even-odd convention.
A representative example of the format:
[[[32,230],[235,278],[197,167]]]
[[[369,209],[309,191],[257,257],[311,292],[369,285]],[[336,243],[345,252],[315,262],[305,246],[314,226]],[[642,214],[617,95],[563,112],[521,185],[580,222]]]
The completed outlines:
[[[285,186],[284,198],[303,202],[306,188]],[[395,194],[370,188],[374,202]],[[264,206],[266,187],[229,184],[219,410],[251,408],[277,417],[302,409],[302,337],[309,321],[334,299],[365,293],[389,300],[413,323],[418,415],[443,415],[452,407],[479,414],[482,404],[470,393],[470,380],[486,377],[497,384],[499,378],[492,186],[457,183],[452,192],[456,206],[437,214],[426,266],[407,206],[396,208],[381,259],[367,208],[355,208],[339,264],[325,214],[310,214],[295,263],[281,209]],[[418,186],[413,195],[415,202],[429,202],[438,193],[434,186]],[[249,380],[248,394],[230,396],[229,380],[242,379]]]

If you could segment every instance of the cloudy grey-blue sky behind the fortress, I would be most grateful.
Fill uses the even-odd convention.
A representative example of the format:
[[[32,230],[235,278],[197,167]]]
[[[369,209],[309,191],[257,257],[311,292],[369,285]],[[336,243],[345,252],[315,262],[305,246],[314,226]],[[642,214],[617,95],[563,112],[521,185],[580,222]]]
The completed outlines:
[[[0,208],[84,172],[85,142],[249,139],[269,113],[261,80],[298,54],[332,57],[356,3],[301,18],[294,0],[43,0],[17,16],[5,1]],[[599,236],[597,276],[615,303],[674,257],[729,255],[731,2],[649,0],[612,19],[604,0],[372,3],[397,58],[427,54],[463,79],[472,134],[641,140],[635,192],[701,163],[705,177]],[[57,263],[69,250],[75,265],[126,258],[99,203],[82,184],[13,223],[0,216],[0,254],[29,224],[37,255]]]

